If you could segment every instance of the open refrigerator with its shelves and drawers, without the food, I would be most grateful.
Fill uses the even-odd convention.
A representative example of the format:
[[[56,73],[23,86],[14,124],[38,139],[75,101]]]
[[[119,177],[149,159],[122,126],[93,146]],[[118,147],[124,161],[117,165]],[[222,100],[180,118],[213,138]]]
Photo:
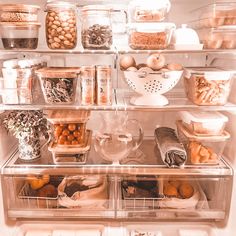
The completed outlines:
[[[128,10],[130,1],[70,1],[79,7],[99,4],[109,4],[117,12]],[[235,4],[232,1],[221,1],[224,4]],[[0,3],[6,3],[0,0]],[[13,2],[12,2],[13,3]],[[236,89],[235,78],[232,79],[231,93],[226,105],[199,106],[188,101],[184,92],[184,81],[167,93],[169,104],[135,104],[135,93],[132,81],[124,81],[124,72],[120,70],[119,61],[123,55],[132,55],[137,61],[143,62],[152,53],[165,55],[168,62],[177,61],[184,67],[222,67],[228,70],[236,68],[236,49],[204,48],[203,50],[175,50],[175,49],[132,49],[128,47],[127,29],[121,24],[121,16],[115,19],[113,28],[117,31],[113,35],[113,46],[108,49],[83,49],[80,40],[81,21],[78,17],[78,42],[74,49],[49,49],[45,35],[44,12],[46,0],[14,0],[14,3],[35,4],[40,6],[39,42],[36,50],[5,50],[0,49],[1,68],[3,62],[9,59],[23,59],[44,57],[50,67],[76,67],[91,65],[110,65],[112,68],[112,103],[110,105],[81,105],[79,103],[45,104],[42,94],[34,104],[0,104],[0,235],[30,236],[30,235],[178,235],[178,236],[233,236],[236,232],[234,219],[236,217],[236,186],[234,170],[236,169]],[[172,0],[171,10],[167,20],[177,26],[183,23],[194,25],[195,10],[212,1]],[[219,3],[219,2],[218,2]],[[220,4],[220,3],[219,3]],[[236,18],[236,13],[235,18]],[[126,15],[123,16],[124,22]],[[118,23],[117,23],[118,22]],[[121,32],[123,31],[123,32]],[[236,31],[235,31],[236,32]],[[205,33],[206,34],[206,33]],[[204,42],[203,42],[204,43]],[[139,78],[143,79],[143,78]],[[131,83],[131,85],[130,85]],[[135,85],[134,85],[135,86]],[[151,86],[151,85],[150,85]],[[134,89],[135,90],[135,89]],[[41,92],[42,93],[42,92]],[[41,99],[41,100],[40,100]],[[41,157],[36,161],[24,162],[19,159],[18,141],[7,133],[2,122],[6,114],[14,110],[86,110],[90,113],[87,128],[95,134],[104,121],[103,114],[126,112],[130,119],[138,120],[144,131],[143,142],[134,158],[128,157],[128,162],[120,165],[104,161],[91,144],[89,154],[85,157],[85,164],[56,163],[55,157],[48,150],[48,144],[43,145]],[[176,121],[181,111],[221,112],[228,117],[226,130],[230,133],[226,147],[216,165],[191,164],[189,161],[180,168],[168,168],[163,164],[154,138],[156,127],[166,126],[176,129]],[[89,137],[94,141],[94,135]],[[88,138],[88,139],[89,139]],[[92,141],[92,143],[93,143]],[[89,176],[90,181],[102,182],[99,191],[92,199],[84,196],[84,205],[74,207],[66,199],[62,201],[58,196],[40,197],[32,191],[29,176],[50,175],[55,185],[60,185],[66,178],[81,178]],[[155,185],[158,194],[150,197],[132,198],[127,195],[126,185],[129,181],[139,181],[143,185]],[[168,201],[160,194],[168,181],[178,180],[180,183],[188,181],[194,188],[193,195],[188,201],[179,199]],[[32,183],[32,182],[31,182]],[[105,185],[105,187],[104,187]],[[158,186],[158,187],[157,187]],[[133,187],[133,186],[132,186]],[[106,189],[106,193],[104,193]],[[163,190],[162,190],[163,191]],[[161,192],[163,193],[163,192]],[[149,232],[149,234],[145,234]]]

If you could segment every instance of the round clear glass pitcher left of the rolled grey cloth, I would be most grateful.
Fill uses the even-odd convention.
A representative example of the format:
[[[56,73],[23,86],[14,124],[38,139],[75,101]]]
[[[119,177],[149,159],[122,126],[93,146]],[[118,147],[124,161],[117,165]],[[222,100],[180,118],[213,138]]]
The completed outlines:
[[[137,120],[128,119],[123,111],[104,112],[101,118],[101,127],[95,134],[95,150],[104,160],[119,164],[141,145],[142,127]]]

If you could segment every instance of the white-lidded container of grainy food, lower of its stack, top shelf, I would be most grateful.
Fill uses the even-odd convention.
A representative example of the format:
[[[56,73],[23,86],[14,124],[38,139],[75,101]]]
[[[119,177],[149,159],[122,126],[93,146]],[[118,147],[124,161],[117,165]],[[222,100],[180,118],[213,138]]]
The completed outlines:
[[[129,46],[132,49],[166,49],[175,30],[173,23],[137,23],[129,25]]]

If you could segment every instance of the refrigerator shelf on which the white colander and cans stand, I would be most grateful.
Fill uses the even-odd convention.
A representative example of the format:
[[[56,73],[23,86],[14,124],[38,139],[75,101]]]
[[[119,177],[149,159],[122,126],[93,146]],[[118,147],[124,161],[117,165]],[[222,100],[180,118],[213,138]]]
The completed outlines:
[[[48,105],[48,104],[30,104],[30,105],[4,105],[0,104],[0,111],[8,110],[56,110],[56,109],[81,109],[91,111],[115,111],[115,110],[126,110],[126,111],[183,111],[183,110],[199,110],[199,111],[236,111],[236,104],[228,102],[224,106],[198,106],[190,102],[184,91],[170,91],[166,94],[169,100],[169,104],[166,106],[142,106],[133,105],[130,103],[130,99],[133,96],[138,96],[137,93],[132,92],[128,89],[114,89],[113,91],[113,102],[111,105],[90,105],[83,106],[80,104],[71,105]]]

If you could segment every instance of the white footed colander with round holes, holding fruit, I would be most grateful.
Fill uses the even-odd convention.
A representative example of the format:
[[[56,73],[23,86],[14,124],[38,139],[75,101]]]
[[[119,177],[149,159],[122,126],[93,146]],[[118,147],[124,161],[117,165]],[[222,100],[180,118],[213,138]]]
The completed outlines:
[[[162,94],[171,90],[180,80],[183,71],[124,71],[129,87],[140,96],[130,99],[134,105],[165,106],[168,99]]]

